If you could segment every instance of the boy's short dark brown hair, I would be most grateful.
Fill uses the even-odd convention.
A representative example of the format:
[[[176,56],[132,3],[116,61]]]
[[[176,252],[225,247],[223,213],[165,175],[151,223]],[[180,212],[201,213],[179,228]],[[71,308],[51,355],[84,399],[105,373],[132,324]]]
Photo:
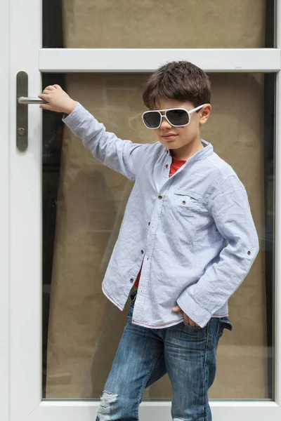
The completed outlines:
[[[209,104],[211,82],[200,67],[190,62],[169,62],[150,76],[143,92],[143,102],[150,109],[161,98],[189,101],[195,107]]]

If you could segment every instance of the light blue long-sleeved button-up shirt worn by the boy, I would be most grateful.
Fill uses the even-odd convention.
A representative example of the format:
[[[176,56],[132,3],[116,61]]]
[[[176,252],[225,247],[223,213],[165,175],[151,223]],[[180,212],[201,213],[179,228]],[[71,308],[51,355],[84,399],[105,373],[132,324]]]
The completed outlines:
[[[183,321],[177,304],[204,327],[228,315],[228,299],[259,251],[247,193],[210,143],[169,178],[171,154],[107,133],[80,104],[63,119],[105,166],[134,181],[103,280],[119,309],[143,262],[133,323],[166,328]]]

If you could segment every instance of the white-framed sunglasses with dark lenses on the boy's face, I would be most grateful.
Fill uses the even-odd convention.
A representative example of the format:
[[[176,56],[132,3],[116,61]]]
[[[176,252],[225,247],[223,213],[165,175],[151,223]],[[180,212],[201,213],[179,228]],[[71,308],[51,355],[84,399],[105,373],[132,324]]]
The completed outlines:
[[[207,104],[200,105],[194,109],[188,111],[184,108],[170,108],[170,109],[157,109],[152,111],[145,111],[143,113],[143,123],[147,128],[159,128],[162,124],[163,117],[166,118],[166,121],[174,127],[183,127],[188,126],[190,123],[190,114],[192,112],[198,111]],[[164,112],[164,114],[161,114]]]

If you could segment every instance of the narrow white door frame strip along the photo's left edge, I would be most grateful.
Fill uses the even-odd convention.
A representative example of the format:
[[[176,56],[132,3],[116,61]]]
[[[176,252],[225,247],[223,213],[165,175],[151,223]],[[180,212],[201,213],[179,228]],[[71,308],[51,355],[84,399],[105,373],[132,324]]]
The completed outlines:
[[[9,419],[9,308],[8,308],[8,281],[9,281],[9,192],[8,192],[8,175],[9,175],[9,79],[10,79],[10,62],[9,62],[9,39],[6,35],[10,30],[10,11],[8,1],[4,1],[1,6],[0,28],[5,36],[0,36],[0,53],[4,58],[0,65],[0,80],[4,81],[1,87],[0,101],[0,417],[3,420]]]

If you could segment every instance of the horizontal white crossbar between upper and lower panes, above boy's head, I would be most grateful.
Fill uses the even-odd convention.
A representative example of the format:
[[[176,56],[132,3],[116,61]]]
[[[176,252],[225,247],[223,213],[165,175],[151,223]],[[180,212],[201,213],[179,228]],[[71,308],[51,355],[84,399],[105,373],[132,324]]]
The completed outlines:
[[[277,48],[41,48],[41,72],[152,72],[169,60],[189,60],[206,72],[278,72]]]

